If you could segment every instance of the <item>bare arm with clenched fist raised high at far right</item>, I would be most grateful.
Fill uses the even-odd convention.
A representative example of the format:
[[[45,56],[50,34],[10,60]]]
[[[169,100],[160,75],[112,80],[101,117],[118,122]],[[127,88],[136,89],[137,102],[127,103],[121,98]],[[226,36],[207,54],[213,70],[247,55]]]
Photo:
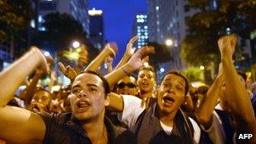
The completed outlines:
[[[221,51],[224,81],[227,84],[225,96],[228,105],[232,109],[232,114],[236,116],[239,129],[256,132],[253,106],[232,62],[237,37],[235,35],[224,36],[218,40],[218,45]]]

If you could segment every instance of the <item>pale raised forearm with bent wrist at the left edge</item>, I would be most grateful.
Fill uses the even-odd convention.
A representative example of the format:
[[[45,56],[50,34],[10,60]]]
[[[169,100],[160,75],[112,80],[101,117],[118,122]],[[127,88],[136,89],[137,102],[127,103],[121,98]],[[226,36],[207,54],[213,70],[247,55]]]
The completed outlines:
[[[8,69],[0,73],[0,106],[8,104],[19,85],[24,82],[35,67],[49,72],[45,57],[39,49],[32,48],[28,53],[15,61]]]

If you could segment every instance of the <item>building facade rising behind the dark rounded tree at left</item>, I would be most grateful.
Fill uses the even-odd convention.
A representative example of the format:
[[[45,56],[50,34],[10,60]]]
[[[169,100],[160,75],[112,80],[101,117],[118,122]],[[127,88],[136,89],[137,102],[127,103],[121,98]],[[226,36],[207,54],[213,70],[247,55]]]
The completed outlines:
[[[88,0],[39,0],[31,1],[31,9],[35,14],[31,19],[32,28],[44,31],[42,27],[43,17],[48,13],[68,13],[71,14],[80,24],[83,30],[89,34]]]

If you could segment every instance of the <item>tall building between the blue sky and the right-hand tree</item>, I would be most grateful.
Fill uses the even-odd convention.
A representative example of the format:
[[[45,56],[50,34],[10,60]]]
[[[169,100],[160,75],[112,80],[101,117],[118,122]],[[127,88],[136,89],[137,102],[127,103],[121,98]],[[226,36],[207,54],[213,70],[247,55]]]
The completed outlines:
[[[180,56],[180,45],[187,28],[185,19],[196,11],[188,7],[187,0],[155,0],[147,1],[148,6],[148,33],[150,41],[168,44],[173,60],[162,64],[159,75],[168,69],[183,70],[186,66]],[[164,70],[164,71],[163,71]]]

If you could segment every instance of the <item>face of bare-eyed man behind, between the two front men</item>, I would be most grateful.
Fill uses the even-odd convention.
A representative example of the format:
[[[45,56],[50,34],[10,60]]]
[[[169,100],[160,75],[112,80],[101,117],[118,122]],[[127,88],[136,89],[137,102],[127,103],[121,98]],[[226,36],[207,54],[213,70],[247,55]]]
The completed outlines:
[[[154,72],[149,70],[141,70],[138,75],[138,88],[143,92],[152,92],[155,85]]]

